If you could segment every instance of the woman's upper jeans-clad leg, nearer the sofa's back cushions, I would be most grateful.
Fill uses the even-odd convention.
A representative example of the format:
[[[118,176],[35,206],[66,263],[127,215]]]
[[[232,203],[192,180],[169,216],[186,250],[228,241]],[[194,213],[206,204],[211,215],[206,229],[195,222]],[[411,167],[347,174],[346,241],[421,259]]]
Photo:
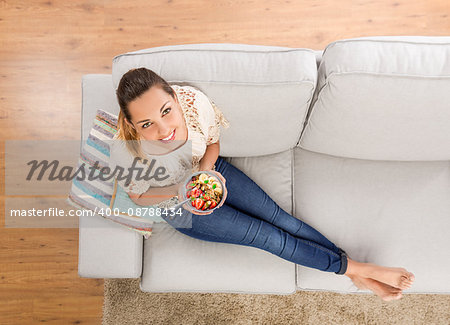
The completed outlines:
[[[228,190],[225,203],[247,214],[258,217],[276,227],[288,232],[292,236],[309,240],[321,247],[328,248],[342,257],[346,263],[345,252],[329,241],[319,231],[305,222],[293,217],[273,201],[258,184],[241,170],[218,157],[215,170],[226,179]]]

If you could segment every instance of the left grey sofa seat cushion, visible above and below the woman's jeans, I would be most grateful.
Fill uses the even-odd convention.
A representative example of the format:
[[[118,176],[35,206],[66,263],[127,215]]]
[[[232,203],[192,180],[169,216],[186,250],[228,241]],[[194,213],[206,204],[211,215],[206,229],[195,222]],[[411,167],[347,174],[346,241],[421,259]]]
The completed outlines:
[[[292,154],[226,160],[291,212]],[[262,249],[199,240],[165,223],[144,240],[143,291],[289,294],[295,285],[295,264]]]

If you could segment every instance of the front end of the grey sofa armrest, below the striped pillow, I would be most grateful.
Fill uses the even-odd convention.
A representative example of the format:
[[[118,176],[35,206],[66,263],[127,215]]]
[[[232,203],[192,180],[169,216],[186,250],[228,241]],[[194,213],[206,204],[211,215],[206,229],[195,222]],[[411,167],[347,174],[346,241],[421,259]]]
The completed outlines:
[[[80,277],[141,277],[142,235],[98,215],[81,216],[79,221]]]

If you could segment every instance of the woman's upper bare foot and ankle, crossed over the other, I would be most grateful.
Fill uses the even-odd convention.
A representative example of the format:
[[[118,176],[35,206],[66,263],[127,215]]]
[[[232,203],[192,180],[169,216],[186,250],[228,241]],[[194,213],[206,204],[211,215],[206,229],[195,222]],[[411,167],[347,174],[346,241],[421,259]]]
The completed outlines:
[[[345,275],[370,278],[402,290],[410,288],[414,282],[414,274],[404,268],[359,263],[350,258],[348,258],[348,267]]]

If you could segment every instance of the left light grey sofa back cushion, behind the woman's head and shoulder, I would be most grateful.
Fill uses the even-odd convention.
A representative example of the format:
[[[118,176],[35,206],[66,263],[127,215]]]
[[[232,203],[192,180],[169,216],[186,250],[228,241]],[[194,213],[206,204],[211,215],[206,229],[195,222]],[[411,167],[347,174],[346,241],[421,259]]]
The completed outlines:
[[[205,43],[118,55],[114,88],[128,70],[139,67],[204,92],[230,122],[221,133],[221,155],[233,157],[294,148],[317,77],[316,53],[310,49]]]

